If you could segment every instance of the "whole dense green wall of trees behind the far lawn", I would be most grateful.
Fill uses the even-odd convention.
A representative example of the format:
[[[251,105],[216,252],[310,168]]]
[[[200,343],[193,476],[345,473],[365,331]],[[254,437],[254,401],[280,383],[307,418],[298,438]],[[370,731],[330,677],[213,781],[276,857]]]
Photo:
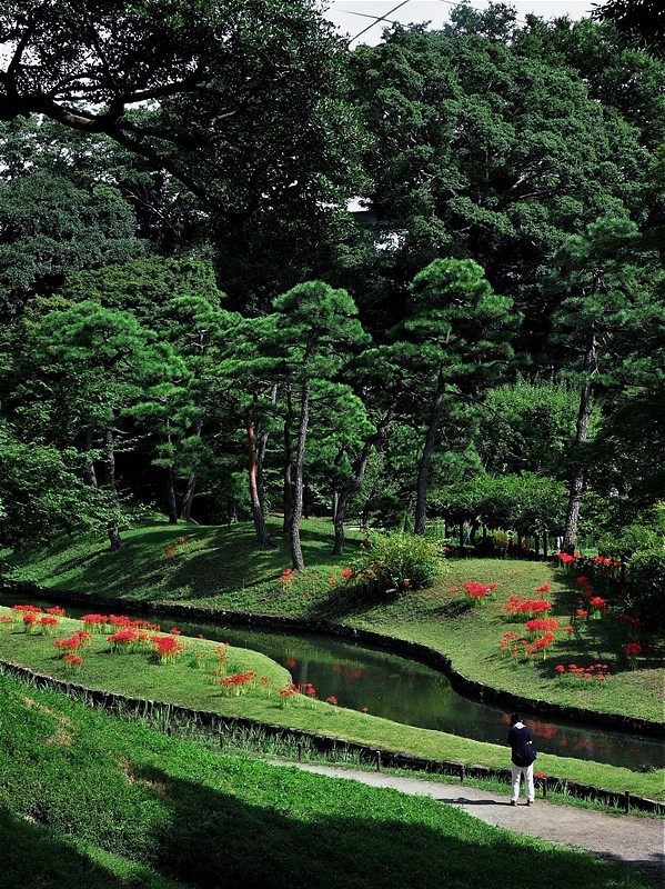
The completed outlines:
[[[0,13],[1,546],[152,510],[270,545],[270,511],[294,569],[321,515],[337,553],[350,516],[440,519],[665,576],[657,52],[503,4],[353,50],[310,2],[29,7]]]

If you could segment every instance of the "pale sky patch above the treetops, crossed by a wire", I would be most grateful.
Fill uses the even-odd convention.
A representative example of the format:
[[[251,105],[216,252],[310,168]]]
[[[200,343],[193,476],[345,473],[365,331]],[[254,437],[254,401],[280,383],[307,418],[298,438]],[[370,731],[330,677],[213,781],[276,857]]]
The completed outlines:
[[[455,6],[454,0],[405,0],[400,9],[395,7],[401,0],[328,0],[329,11],[326,17],[335,24],[341,34],[355,38],[351,46],[362,43],[377,43],[385,22],[372,26],[371,17],[385,16],[391,22],[402,24],[431,21],[437,27],[447,20],[450,10]],[[594,2],[599,0],[506,0],[517,11],[517,18],[523,18],[534,12],[543,19],[556,16],[567,16],[570,19],[580,19],[588,16]],[[472,0],[471,6],[476,9],[486,9],[487,0]],[[393,11],[391,11],[393,10]],[[360,37],[365,28],[369,30]]]

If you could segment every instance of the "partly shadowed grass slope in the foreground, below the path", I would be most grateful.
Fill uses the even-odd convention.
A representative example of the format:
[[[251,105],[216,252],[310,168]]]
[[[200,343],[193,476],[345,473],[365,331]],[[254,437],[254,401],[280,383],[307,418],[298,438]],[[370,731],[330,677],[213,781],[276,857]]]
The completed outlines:
[[[653,886],[429,798],[222,756],[6,676],[0,697],[8,889]]]

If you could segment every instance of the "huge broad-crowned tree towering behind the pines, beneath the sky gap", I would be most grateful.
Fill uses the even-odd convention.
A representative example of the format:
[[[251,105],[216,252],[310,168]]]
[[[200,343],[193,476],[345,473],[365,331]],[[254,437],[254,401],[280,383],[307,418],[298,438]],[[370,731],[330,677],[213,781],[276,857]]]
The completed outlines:
[[[419,269],[470,257],[514,299],[522,343],[537,353],[554,308],[542,291],[548,258],[609,208],[642,212],[636,183],[648,154],[561,53],[520,41],[514,17],[502,23],[464,7],[452,18],[440,31],[395,27],[352,53],[374,140],[365,152],[377,246],[367,313],[381,299],[401,318]]]

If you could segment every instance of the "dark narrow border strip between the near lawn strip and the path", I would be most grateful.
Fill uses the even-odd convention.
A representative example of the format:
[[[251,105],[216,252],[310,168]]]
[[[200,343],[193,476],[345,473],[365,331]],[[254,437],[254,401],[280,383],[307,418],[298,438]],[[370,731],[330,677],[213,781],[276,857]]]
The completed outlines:
[[[356,741],[349,741],[345,738],[318,735],[304,729],[273,726],[269,722],[260,722],[255,719],[228,717],[210,710],[195,710],[190,707],[183,707],[182,705],[152,701],[147,698],[132,698],[114,691],[90,689],[87,686],[69,682],[66,679],[56,679],[48,673],[36,672],[29,667],[23,667],[12,661],[0,660],[0,665],[13,677],[33,682],[38,688],[63,692],[70,697],[77,697],[78,699],[82,697],[87,702],[91,702],[92,706],[97,706],[110,712],[134,711],[147,716],[153,711],[159,712],[161,709],[168,711],[172,717],[184,717],[201,728],[216,731],[220,738],[220,749],[222,750],[224,732],[233,728],[254,728],[261,729],[273,738],[290,736],[296,741],[306,740],[314,749],[322,752],[342,750],[345,752],[360,753],[366,757],[369,761],[373,762],[379,770],[382,768],[392,768],[409,771],[424,771],[431,775],[449,775],[459,777],[461,782],[464,781],[465,777],[480,779],[502,778],[506,781],[511,780],[511,772],[508,769],[492,768],[490,766],[467,766],[463,762],[450,760],[413,757],[409,753],[400,753],[395,750],[385,750],[370,745],[362,745]],[[170,729],[171,723],[172,721],[168,723],[167,730]],[[581,785],[555,776],[547,776],[545,787],[547,791],[551,792],[566,792],[568,796],[577,799],[593,800],[604,806],[623,808],[626,812],[629,812],[631,809],[636,809],[657,816],[665,816],[665,801],[661,802],[645,797],[635,797],[628,790],[621,793],[615,790],[605,790],[594,787],[593,785]]]

